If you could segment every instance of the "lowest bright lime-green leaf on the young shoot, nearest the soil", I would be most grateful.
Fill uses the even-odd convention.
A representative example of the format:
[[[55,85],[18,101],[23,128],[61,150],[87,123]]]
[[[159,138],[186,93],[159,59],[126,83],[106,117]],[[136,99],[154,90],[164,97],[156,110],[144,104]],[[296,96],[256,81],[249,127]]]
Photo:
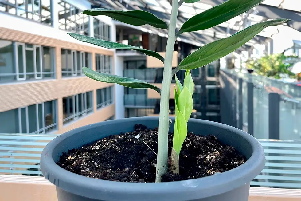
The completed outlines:
[[[179,112],[178,116],[174,122],[174,137],[173,137],[173,148],[177,152],[178,157],[180,156],[180,151],[184,140],[187,136],[187,124],[182,112]]]

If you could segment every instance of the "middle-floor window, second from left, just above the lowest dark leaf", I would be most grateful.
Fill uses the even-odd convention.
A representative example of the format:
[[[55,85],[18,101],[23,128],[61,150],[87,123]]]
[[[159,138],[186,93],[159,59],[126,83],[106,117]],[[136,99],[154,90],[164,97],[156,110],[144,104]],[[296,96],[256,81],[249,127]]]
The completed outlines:
[[[83,67],[91,68],[91,54],[69,49],[61,49],[62,76],[82,76]]]

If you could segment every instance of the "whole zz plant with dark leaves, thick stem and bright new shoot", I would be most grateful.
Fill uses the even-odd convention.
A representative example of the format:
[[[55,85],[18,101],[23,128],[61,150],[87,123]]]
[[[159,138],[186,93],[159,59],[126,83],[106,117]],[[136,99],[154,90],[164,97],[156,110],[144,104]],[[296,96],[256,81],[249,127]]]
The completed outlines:
[[[148,56],[155,57],[164,63],[162,89],[157,86],[151,85],[145,81],[120,77],[117,75],[110,75],[106,73],[98,73],[89,68],[83,68],[86,76],[101,82],[117,83],[130,88],[146,89],[151,88],[161,94],[160,102],[160,115],[159,115],[159,136],[158,136],[158,157],[156,166],[156,182],[161,181],[161,176],[167,172],[168,160],[168,131],[170,120],[168,117],[169,97],[171,79],[179,70],[186,70],[184,86],[176,78],[177,90],[175,90],[175,106],[176,118],[174,123],[174,139],[172,148],[172,167],[174,173],[178,173],[178,160],[182,144],[187,135],[187,122],[192,112],[193,101],[193,80],[190,75],[190,69],[200,68],[205,66],[227,54],[233,52],[246,42],[251,40],[256,34],[268,26],[282,25],[288,22],[288,19],[275,19],[264,22],[259,22],[255,25],[237,32],[236,34],[214,41],[207,45],[202,46],[195,52],[187,56],[180,64],[174,69],[171,69],[174,44],[182,33],[205,30],[210,27],[216,26],[223,22],[228,21],[244,12],[257,6],[264,0],[228,0],[220,5],[214,6],[200,14],[188,19],[176,32],[176,22],[178,15],[178,8],[185,3],[194,3],[199,0],[172,0],[172,9],[169,24],[157,18],[155,15],[143,10],[108,10],[103,8],[95,8],[85,10],[83,13],[92,16],[106,15],[120,22],[124,22],[134,26],[151,25],[159,29],[168,29],[168,39],[166,46],[165,58],[159,53],[131,46],[124,45],[117,42],[105,41],[88,36],[83,36],[75,33],[68,33],[77,40],[98,45],[109,49],[134,49],[142,52]]]

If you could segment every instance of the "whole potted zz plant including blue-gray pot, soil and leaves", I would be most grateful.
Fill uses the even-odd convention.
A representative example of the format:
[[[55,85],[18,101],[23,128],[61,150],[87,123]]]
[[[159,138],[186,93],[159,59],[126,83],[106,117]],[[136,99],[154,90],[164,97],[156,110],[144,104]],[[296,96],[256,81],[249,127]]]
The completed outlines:
[[[106,15],[134,26],[149,24],[168,29],[165,58],[147,49],[69,33],[83,42],[110,49],[134,49],[164,62],[162,89],[137,79],[83,69],[88,77],[97,81],[156,90],[161,94],[160,115],[91,124],[52,140],[42,152],[41,171],[56,185],[59,201],[248,200],[250,181],[264,168],[264,151],[255,138],[237,128],[189,119],[193,108],[190,69],[224,57],[265,27],[281,25],[288,20],[260,22],[204,45],[172,70],[174,43],[178,36],[226,22],[263,0],[243,3],[228,0],[190,18],[176,33],[179,6],[183,2],[197,1],[174,0],[169,24],[142,10],[89,9],[83,12]],[[186,70],[184,84],[176,78],[175,118],[169,119],[170,83],[179,70]]]

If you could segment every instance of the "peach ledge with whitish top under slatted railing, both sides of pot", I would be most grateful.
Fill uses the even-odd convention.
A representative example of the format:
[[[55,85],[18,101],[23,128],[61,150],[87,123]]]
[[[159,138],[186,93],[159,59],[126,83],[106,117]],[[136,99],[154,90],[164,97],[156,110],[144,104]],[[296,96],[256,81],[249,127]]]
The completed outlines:
[[[0,188],[2,190],[0,200],[3,201],[57,201],[55,186],[43,177],[0,175]],[[300,199],[301,190],[294,189],[251,187],[249,193],[249,201]]]

